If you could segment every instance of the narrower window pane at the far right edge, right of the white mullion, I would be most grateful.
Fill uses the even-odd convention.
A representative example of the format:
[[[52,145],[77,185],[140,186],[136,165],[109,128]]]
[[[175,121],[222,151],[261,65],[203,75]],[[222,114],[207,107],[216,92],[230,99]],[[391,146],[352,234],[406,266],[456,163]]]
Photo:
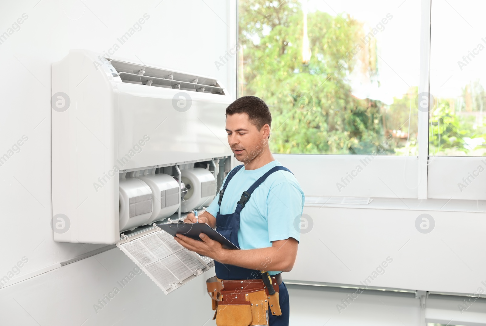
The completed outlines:
[[[432,2],[429,154],[486,153],[485,1]]]

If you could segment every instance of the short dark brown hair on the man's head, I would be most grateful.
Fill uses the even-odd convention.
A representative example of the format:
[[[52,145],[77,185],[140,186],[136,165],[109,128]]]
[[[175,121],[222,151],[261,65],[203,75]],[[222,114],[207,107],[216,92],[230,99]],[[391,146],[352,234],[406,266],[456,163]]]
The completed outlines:
[[[268,124],[272,127],[272,114],[263,100],[256,96],[242,96],[226,108],[226,116],[235,113],[246,113],[252,125],[261,127]]]

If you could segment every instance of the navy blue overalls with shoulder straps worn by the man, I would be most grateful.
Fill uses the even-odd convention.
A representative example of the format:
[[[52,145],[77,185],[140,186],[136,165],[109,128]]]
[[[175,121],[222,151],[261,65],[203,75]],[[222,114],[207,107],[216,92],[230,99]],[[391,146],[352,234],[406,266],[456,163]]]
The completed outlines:
[[[223,200],[225,189],[229,181],[231,181],[234,175],[242,167],[243,165],[238,165],[229,172],[225,184],[223,185],[223,189],[221,189],[219,193],[218,204],[220,206],[221,206],[221,201]],[[216,214],[216,231],[224,235],[226,239],[231,241],[238,248],[240,248],[240,244],[238,243],[238,230],[240,229],[240,213],[242,209],[244,208],[248,199],[250,199],[250,196],[253,193],[253,191],[258,186],[260,186],[260,184],[263,181],[265,181],[269,175],[279,170],[289,171],[290,173],[292,173],[289,169],[287,169],[284,166],[281,165],[274,166],[263,176],[261,176],[260,179],[255,181],[255,183],[253,183],[251,187],[248,188],[248,190],[243,192],[241,199],[238,201],[238,204],[236,205],[236,210],[234,213],[220,214],[218,209],[218,213]],[[250,270],[239,266],[222,264],[216,260],[214,261],[214,267],[216,270],[216,276],[223,280],[244,280],[244,279],[261,278],[261,272],[258,270]],[[287,291],[287,287],[283,282],[279,286],[279,303],[280,303],[280,309],[282,311],[282,314],[280,316],[274,316],[270,314],[268,320],[269,326],[289,325],[289,293]]]

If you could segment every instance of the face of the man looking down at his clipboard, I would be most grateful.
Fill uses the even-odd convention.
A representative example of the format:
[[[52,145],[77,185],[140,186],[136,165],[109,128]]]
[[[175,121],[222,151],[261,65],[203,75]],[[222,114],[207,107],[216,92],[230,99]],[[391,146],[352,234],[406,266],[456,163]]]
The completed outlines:
[[[248,114],[235,113],[226,117],[226,132],[235,158],[242,163],[249,163],[268,145],[270,127],[265,125],[258,131],[248,119]]]

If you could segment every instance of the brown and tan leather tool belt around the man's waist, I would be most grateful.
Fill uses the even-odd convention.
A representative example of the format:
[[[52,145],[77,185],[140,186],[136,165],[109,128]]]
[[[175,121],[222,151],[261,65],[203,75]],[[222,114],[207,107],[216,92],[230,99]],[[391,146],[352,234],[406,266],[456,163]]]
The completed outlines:
[[[208,278],[206,286],[212,299],[217,326],[268,325],[268,316],[280,316],[278,286],[282,274],[271,276],[275,293],[270,295],[262,279],[222,280]],[[273,291],[272,291],[273,292]]]

